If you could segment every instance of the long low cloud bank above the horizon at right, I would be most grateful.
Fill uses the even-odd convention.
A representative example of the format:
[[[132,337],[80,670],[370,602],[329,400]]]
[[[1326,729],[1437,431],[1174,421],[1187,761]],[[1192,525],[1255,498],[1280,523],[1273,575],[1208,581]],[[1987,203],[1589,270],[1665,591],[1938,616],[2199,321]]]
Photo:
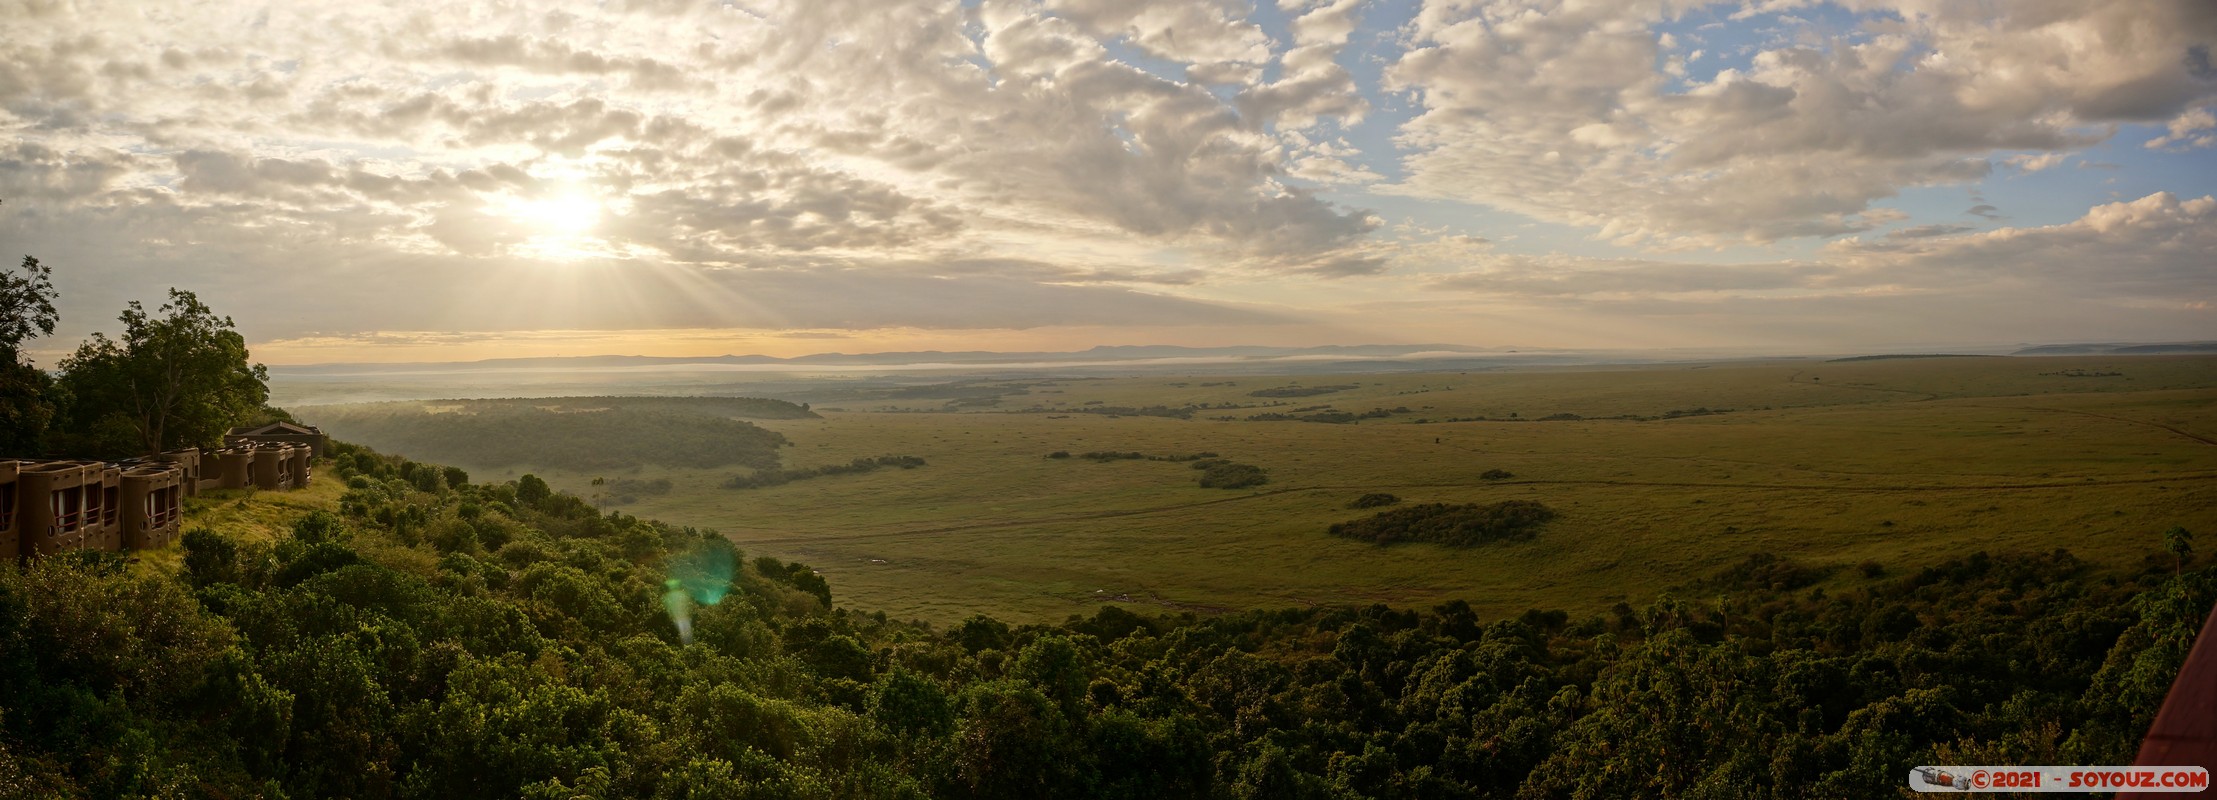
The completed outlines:
[[[1430,299],[1372,315],[1457,317],[1479,343],[1873,352],[2013,341],[2177,341],[2210,328],[2217,197],[2153,193],[2055,226],[1842,239],[1809,261],[1703,264],[1494,253],[1426,264]],[[1423,244],[1439,246],[1439,244]],[[1423,295],[1417,295],[1423,297]]]

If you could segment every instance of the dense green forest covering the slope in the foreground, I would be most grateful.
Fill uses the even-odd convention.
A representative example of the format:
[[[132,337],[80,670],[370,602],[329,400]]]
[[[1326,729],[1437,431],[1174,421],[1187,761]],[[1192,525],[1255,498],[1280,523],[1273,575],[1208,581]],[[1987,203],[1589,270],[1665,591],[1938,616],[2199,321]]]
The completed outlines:
[[[2168,554],[1833,592],[1749,556],[1585,618],[936,629],[532,476],[335,454],[339,512],[279,541],[0,565],[0,798],[1876,798],[2131,762],[2217,601]]]

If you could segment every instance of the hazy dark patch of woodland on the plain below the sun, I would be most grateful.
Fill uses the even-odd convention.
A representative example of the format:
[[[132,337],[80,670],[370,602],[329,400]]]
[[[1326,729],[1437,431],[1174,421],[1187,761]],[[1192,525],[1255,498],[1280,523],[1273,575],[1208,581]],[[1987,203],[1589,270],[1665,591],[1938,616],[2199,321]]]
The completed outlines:
[[[623,470],[778,465],[785,434],[754,423],[645,408],[545,410],[488,403],[430,412],[421,403],[328,406],[324,432],[381,450],[472,468]]]

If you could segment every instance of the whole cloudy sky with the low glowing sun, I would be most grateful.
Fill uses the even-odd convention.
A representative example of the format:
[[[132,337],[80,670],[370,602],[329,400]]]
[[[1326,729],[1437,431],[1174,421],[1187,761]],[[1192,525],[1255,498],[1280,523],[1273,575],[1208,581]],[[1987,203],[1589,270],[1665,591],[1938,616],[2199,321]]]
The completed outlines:
[[[2217,339],[2208,0],[0,0],[51,363]]]

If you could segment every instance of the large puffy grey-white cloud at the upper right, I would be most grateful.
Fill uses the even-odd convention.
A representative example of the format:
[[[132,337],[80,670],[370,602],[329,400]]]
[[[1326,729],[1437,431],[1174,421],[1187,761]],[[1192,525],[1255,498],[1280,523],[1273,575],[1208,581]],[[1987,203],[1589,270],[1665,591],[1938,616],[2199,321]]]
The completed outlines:
[[[1621,244],[1829,237],[1871,228],[1902,188],[1982,180],[1986,153],[2068,153],[2217,95],[2186,58],[2217,40],[2197,0],[1851,9],[1856,31],[1780,31],[1747,66],[1678,84],[1656,69],[1663,4],[1426,4],[1388,73],[1423,106],[1390,191]]]

